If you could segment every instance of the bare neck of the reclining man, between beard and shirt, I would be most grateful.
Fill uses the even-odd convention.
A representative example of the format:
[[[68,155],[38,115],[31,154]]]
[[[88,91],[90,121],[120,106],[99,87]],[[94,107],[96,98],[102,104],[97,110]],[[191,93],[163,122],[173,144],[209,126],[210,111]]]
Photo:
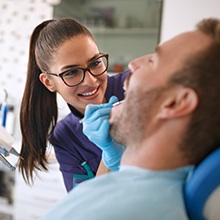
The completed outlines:
[[[132,165],[152,170],[175,169],[189,165],[179,150],[183,134],[181,127],[164,127],[142,143],[127,146],[121,165]]]

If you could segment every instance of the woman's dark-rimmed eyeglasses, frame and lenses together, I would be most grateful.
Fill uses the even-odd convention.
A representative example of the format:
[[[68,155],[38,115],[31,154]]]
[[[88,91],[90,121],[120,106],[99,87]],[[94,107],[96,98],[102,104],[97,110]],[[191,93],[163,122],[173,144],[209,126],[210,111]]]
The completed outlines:
[[[93,76],[100,76],[108,69],[108,54],[102,54],[95,58],[86,68],[72,68],[62,73],[44,73],[60,77],[70,87],[79,85],[84,79],[86,71]]]

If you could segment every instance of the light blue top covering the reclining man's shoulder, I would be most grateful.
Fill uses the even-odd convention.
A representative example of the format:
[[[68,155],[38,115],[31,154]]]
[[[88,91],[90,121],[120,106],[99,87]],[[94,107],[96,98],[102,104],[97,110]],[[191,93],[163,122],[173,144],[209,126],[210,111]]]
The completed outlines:
[[[182,203],[182,189],[158,188],[143,180],[123,173],[111,172],[81,183],[74,188],[60,207],[67,213],[63,217],[74,219],[187,219]],[[158,180],[159,181],[159,180]],[[178,194],[178,200],[173,195]],[[69,206],[69,208],[67,208]],[[60,210],[58,207],[57,210]],[[86,207],[82,212],[82,207]],[[109,208],[111,207],[111,208]],[[64,218],[63,218],[64,219]]]

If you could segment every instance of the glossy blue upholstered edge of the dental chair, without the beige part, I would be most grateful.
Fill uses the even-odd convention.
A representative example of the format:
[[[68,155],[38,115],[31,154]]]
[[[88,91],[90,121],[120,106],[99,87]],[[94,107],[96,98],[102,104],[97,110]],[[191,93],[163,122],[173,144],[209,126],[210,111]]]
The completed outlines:
[[[186,181],[184,197],[189,219],[205,219],[203,214],[205,204],[218,186],[220,186],[220,148],[208,155]]]

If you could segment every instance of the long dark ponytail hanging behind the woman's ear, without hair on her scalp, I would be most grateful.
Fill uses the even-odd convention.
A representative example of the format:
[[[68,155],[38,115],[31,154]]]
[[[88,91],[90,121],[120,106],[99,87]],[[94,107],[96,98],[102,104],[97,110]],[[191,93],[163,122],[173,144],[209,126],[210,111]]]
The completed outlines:
[[[27,79],[20,109],[22,134],[19,170],[27,183],[33,182],[33,170],[45,169],[48,133],[56,125],[56,93],[50,92],[39,80],[41,70],[36,63],[35,46],[40,31],[51,22],[38,25],[30,41]]]

